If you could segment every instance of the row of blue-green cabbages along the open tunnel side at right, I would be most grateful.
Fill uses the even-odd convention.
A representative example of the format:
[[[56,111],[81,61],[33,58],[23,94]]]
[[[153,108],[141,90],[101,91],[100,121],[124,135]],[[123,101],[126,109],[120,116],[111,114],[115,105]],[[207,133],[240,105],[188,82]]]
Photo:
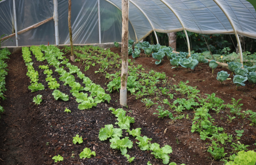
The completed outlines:
[[[115,46],[119,46],[117,42],[114,42]],[[134,46],[134,50],[132,48],[132,45],[134,44],[133,40],[129,40],[129,51],[128,54],[132,54],[133,58],[139,57],[140,52],[144,50],[144,53],[146,55],[151,55],[155,58],[155,64],[160,64],[163,60],[164,56],[167,56],[167,58],[170,60],[170,64],[173,65],[173,68],[178,68],[179,65],[183,68],[187,69],[195,69],[195,67],[198,65],[198,63],[208,63],[208,60],[205,59],[204,55],[201,55],[200,53],[192,54],[191,57],[188,57],[189,53],[186,52],[180,52],[180,53],[174,53],[173,49],[171,47],[167,46],[161,46],[160,44],[156,45],[150,45],[147,41],[144,41],[142,43],[137,43]],[[256,60],[256,59],[255,59]],[[256,65],[252,66],[246,66],[242,67],[243,65],[239,62],[227,62],[228,68],[230,71],[232,71],[232,74],[235,73],[233,77],[233,83],[236,84],[236,86],[245,86],[245,81],[248,80],[251,84],[256,83]],[[209,62],[209,67],[212,68],[212,73],[214,73],[214,69],[218,66],[217,62],[215,60],[211,60]],[[230,74],[228,74],[226,71],[220,71],[217,73],[217,80],[220,82],[225,81]]]

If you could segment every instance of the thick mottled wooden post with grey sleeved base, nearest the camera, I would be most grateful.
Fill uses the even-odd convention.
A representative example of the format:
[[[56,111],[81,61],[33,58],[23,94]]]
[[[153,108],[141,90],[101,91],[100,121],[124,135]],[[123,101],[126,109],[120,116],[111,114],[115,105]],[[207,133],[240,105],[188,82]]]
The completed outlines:
[[[127,105],[127,77],[128,77],[128,0],[122,0],[122,70],[120,105]]]

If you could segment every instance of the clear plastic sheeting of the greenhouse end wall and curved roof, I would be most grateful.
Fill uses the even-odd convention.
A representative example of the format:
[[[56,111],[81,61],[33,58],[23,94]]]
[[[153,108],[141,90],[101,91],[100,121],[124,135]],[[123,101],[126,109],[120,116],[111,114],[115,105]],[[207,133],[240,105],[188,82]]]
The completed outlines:
[[[100,0],[102,43],[121,42],[121,7],[121,0]],[[17,31],[52,17],[53,12],[53,0],[16,0]],[[13,0],[0,1],[0,35],[14,33],[13,17]],[[68,0],[58,0],[59,44],[70,43],[67,17]],[[136,38],[138,41],[142,40],[153,30],[178,32],[183,30],[183,26],[190,32],[237,32],[256,39],[256,12],[246,0],[131,0],[129,20],[129,39],[134,41]],[[74,44],[99,43],[98,21],[97,0],[72,0],[71,25]],[[18,35],[18,42],[20,46],[48,42],[55,44],[54,21],[21,33]],[[15,45],[10,40],[4,44]]]

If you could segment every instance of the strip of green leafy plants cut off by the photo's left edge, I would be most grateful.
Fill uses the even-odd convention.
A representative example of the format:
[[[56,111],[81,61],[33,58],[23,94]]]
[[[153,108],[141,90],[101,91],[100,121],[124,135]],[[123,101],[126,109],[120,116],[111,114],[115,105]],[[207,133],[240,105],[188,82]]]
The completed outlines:
[[[0,99],[5,100],[4,92],[6,91],[5,88],[5,76],[8,74],[7,69],[7,62],[6,60],[9,59],[8,55],[11,55],[11,52],[8,49],[0,49]],[[0,113],[4,112],[4,108],[0,105]]]

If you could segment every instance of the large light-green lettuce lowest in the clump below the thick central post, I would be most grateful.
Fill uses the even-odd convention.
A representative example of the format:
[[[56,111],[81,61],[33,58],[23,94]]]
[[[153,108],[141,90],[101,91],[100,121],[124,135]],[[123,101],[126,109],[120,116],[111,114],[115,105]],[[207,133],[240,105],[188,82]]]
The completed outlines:
[[[127,153],[127,147],[131,149],[133,147],[133,142],[128,139],[128,137],[125,137],[123,139],[120,139],[119,137],[114,137],[109,140],[111,142],[110,147],[112,149],[118,149],[121,150],[121,154],[125,155]]]

